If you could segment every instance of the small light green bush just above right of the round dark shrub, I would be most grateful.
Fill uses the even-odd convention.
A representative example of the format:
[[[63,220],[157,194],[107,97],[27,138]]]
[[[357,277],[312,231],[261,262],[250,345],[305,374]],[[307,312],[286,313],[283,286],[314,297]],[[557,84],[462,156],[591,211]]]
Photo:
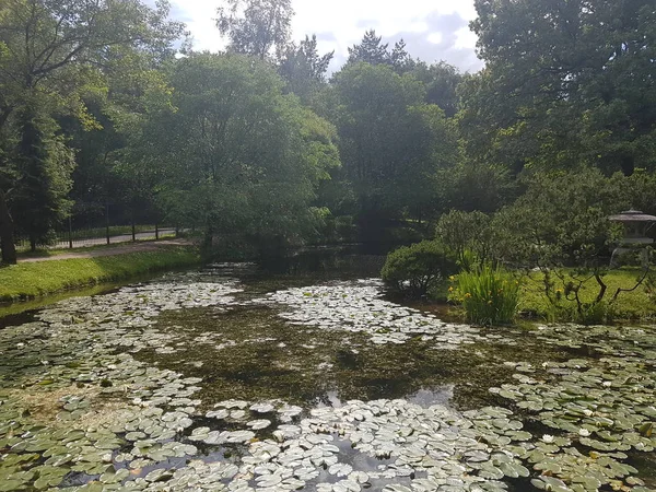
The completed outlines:
[[[440,218],[435,236],[448,247],[461,268],[468,269],[473,262],[484,263],[492,249],[491,218],[482,212],[452,210]]]

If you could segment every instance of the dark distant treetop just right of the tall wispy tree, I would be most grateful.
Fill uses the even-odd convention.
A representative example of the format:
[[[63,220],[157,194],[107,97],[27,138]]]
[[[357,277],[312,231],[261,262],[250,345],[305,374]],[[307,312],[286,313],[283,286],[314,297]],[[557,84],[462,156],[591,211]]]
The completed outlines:
[[[335,51],[319,55],[317,37],[305,36],[298,45],[292,43],[284,49],[278,73],[286,81],[290,92],[308,102],[309,96],[326,83],[326,72],[333,55]]]

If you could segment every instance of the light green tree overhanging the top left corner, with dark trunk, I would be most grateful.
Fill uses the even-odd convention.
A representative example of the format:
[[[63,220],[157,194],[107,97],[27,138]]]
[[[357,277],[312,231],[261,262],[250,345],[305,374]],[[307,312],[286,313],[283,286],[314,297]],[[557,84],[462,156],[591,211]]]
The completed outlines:
[[[167,12],[165,2],[153,10],[139,0],[2,2],[0,147],[4,156],[12,154],[12,145],[16,142],[31,140],[22,134],[23,131],[36,131],[34,136],[43,131],[25,125],[33,117],[19,116],[27,115],[22,109],[33,101],[51,108],[51,113],[75,115],[86,128],[93,128],[96,122],[86,112],[82,94],[106,90],[106,72],[117,60],[129,58],[130,50],[159,58],[169,56],[171,43],[179,37],[183,27],[179,23],[167,22]],[[45,140],[43,144],[46,145]],[[23,145],[23,150],[28,149],[35,147]],[[50,161],[52,165],[57,162],[68,160]],[[0,168],[0,237],[2,259],[7,262],[16,259],[12,197],[20,195],[20,187],[27,181],[20,167],[16,160],[3,159]],[[68,169],[70,172],[70,167]],[[62,167],[56,174],[66,171],[67,167]]]

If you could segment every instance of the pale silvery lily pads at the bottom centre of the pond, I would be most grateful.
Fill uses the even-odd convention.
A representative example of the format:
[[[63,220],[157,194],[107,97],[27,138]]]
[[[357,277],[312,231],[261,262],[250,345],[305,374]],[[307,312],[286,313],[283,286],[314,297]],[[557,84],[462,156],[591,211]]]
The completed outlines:
[[[298,407],[246,401],[219,403],[208,417],[229,418],[234,411],[277,413],[284,421],[269,438],[255,440],[255,432],[210,431],[197,427],[190,438],[210,444],[248,445],[241,466],[220,467],[233,479],[225,489],[239,491],[297,490],[360,491],[375,485],[386,491],[500,491],[504,477],[528,477],[515,458],[526,450],[530,434],[511,412],[484,408],[460,415],[442,406],[422,408],[406,400],[349,401],[342,407],[316,408],[297,423]],[[245,417],[239,414],[239,417]],[[246,424],[255,430],[270,420]],[[368,456],[350,459],[350,454]],[[197,464],[173,472],[172,490],[188,490],[199,483]],[[401,482],[406,481],[406,484]]]

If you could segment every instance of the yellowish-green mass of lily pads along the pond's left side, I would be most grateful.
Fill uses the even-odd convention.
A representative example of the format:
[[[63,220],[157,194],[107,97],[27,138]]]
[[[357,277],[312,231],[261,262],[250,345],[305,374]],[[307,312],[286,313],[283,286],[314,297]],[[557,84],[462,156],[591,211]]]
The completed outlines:
[[[197,454],[174,438],[192,423],[200,379],[129,354],[173,341],[153,328],[162,311],[230,306],[238,292],[233,281],[196,280],[70,298],[0,331],[0,490],[70,477],[112,490],[134,470]]]

